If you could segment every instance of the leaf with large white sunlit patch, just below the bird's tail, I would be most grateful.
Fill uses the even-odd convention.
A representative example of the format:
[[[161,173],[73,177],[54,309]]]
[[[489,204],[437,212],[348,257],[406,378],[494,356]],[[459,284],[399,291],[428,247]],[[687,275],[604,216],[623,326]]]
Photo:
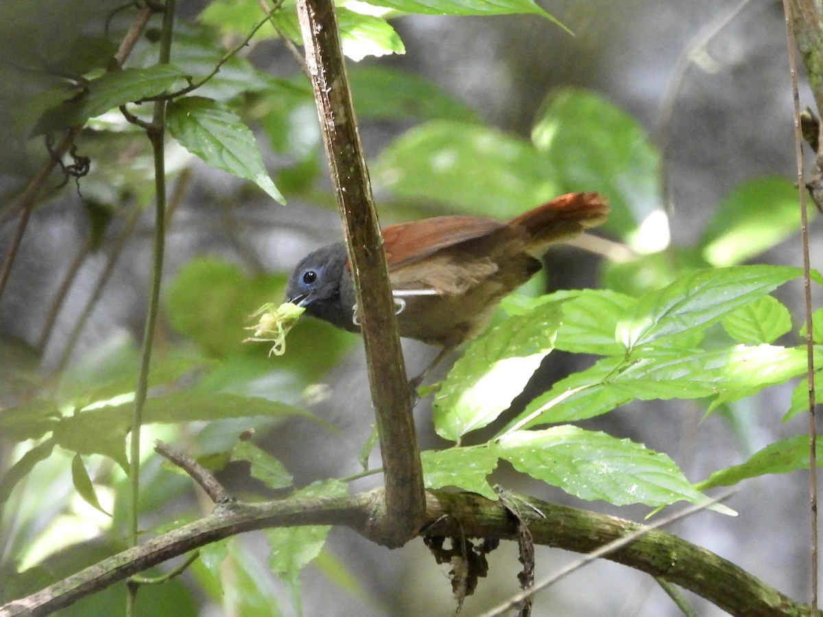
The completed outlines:
[[[458,441],[508,409],[554,348],[561,318],[559,305],[543,304],[472,341],[435,395],[437,434]]]

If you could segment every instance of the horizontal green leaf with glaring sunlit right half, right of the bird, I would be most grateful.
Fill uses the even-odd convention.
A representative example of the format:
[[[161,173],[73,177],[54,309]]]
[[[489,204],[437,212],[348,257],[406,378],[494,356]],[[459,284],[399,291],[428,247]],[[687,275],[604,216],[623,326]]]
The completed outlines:
[[[802,347],[655,350],[610,378],[609,386],[642,400],[702,398],[729,392],[748,395],[801,375],[806,364]]]

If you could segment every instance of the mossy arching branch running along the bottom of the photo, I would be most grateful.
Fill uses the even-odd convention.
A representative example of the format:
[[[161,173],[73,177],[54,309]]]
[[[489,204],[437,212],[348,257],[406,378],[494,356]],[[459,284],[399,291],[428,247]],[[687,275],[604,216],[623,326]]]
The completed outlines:
[[[375,540],[374,513],[382,508],[384,490],[353,497],[285,499],[264,503],[229,503],[210,516],[147,540],[41,591],[0,606],[0,617],[49,615],[95,591],[215,540],[244,531],[296,525],[342,525]],[[528,499],[535,508],[520,513],[535,544],[588,553],[642,528],[635,522]],[[471,493],[426,494],[421,536],[467,536],[516,540],[514,517],[499,502]],[[718,555],[652,530],[615,550],[607,559],[672,582],[718,605],[730,615],[774,617],[811,615],[803,605],[765,585]]]

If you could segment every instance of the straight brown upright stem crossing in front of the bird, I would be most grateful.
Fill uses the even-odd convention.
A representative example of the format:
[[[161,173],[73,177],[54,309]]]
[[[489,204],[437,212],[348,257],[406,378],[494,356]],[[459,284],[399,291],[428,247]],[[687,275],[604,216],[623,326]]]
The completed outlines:
[[[297,13],[323,144],[346,231],[377,415],[386,482],[385,511],[378,519],[384,537],[379,541],[400,546],[420,528],[424,511],[423,472],[383,237],[351,104],[334,5],[331,0],[299,0]]]

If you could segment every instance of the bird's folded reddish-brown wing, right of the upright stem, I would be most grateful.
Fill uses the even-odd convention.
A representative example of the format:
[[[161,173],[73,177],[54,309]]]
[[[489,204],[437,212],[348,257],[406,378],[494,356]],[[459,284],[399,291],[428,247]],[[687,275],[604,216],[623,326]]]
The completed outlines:
[[[388,269],[395,270],[467,240],[482,238],[504,223],[480,216],[436,216],[383,230]]]

